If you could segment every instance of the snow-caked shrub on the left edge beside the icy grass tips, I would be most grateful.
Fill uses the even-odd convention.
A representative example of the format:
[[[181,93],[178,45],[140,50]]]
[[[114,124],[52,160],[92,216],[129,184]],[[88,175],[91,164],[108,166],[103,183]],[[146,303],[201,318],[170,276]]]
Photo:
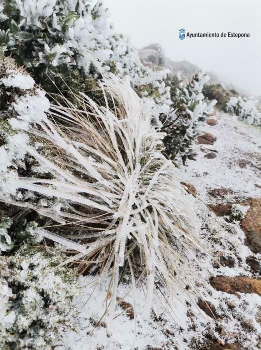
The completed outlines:
[[[33,166],[33,160],[19,146],[30,139],[21,129],[26,130],[29,122],[41,119],[49,101],[22,68],[4,57],[0,57],[0,108],[0,196],[10,199],[15,194],[19,199],[22,194],[15,185],[18,174],[32,175]],[[19,132],[15,130],[17,119]]]

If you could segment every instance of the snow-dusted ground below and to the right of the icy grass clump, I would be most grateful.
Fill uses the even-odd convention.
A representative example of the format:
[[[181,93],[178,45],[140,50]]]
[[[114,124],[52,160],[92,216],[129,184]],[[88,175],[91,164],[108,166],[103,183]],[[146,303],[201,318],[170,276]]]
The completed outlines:
[[[257,349],[261,328],[256,315],[261,298],[256,294],[239,293],[238,296],[216,291],[208,282],[216,275],[252,276],[245,259],[253,253],[244,245],[245,236],[239,221],[217,217],[206,204],[220,201],[209,194],[212,189],[229,190],[221,198],[224,202],[261,197],[261,189],[256,186],[261,185],[258,176],[261,131],[227,114],[218,115],[217,120],[217,125],[204,124],[201,128],[203,132],[214,134],[216,142],[212,146],[195,145],[197,161],[180,167],[182,180],[196,187],[197,197],[188,195],[201,221],[202,244],[210,253],[198,255],[200,266],[191,260],[193,277],[200,297],[215,306],[217,319],[197,307],[196,296],[175,290],[176,297],[171,300],[158,291],[153,300],[151,320],[146,321],[142,317],[145,300],[142,285],[134,292],[129,285],[121,284],[120,297],[134,307],[135,318],[131,319],[127,314],[129,310],[118,305],[116,318],[108,324],[106,315],[102,316],[109,300],[106,292],[109,278],[95,284],[96,277],[81,276],[81,295],[74,299],[78,313],[73,319],[73,331],[64,334],[57,349],[208,349],[211,347],[206,345],[206,336],[214,339],[215,344],[240,343],[241,348]],[[205,158],[213,150],[217,157]],[[246,209],[241,207],[242,215]],[[220,265],[220,256],[232,258],[234,265]],[[260,258],[258,254],[257,257]],[[250,330],[242,325],[249,323]]]

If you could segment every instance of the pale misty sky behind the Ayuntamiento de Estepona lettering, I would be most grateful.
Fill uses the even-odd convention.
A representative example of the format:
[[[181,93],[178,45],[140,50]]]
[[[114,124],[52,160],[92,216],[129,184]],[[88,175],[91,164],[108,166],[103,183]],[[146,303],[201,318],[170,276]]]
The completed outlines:
[[[249,94],[261,95],[261,0],[103,0],[117,32],[137,48],[158,42]],[[189,32],[249,32],[250,38],[178,38]]]

